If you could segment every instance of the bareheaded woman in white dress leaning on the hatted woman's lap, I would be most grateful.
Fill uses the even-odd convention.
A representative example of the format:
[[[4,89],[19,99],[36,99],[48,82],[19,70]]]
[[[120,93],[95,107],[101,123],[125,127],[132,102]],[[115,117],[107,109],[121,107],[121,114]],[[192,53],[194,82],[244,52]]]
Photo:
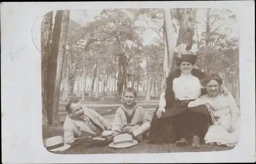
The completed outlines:
[[[213,124],[204,137],[206,144],[234,147],[240,135],[240,110],[230,92],[227,96],[220,92],[222,82],[222,78],[216,74],[207,75],[202,81],[207,95],[191,101],[188,107],[206,105],[211,113]]]

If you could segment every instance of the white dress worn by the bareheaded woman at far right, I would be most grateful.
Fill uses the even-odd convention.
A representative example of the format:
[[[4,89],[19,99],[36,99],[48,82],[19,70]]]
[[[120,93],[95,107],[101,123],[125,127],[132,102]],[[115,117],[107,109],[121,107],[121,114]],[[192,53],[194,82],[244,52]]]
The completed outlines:
[[[218,145],[226,145],[234,147],[237,145],[240,136],[240,110],[236,105],[231,93],[228,96],[220,94],[214,98],[203,95],[194,102],[188,104],[189,107],[206,104],[211,112],[212,124],[206,135],[205,143]],[[210,105],[207,105],[210,104]],[[237,114],[237,122],[235,130],[230,133],[228,131],[231,125],[232,115]]]

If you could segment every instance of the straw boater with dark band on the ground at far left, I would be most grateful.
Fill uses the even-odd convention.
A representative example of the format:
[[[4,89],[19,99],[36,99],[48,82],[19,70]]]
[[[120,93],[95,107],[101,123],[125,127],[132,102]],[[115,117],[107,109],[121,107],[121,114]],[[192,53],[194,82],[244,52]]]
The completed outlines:
[[[46,149],[48,151],[63,151],[70,148],[70,145],[64,144],[61,136],[54,136],[46,139]]]

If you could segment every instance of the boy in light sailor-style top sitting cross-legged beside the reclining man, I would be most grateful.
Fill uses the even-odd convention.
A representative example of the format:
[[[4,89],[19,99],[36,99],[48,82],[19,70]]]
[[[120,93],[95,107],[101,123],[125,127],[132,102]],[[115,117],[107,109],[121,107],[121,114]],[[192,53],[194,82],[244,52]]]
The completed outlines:
[[[124,104],[116,111],[112,137],[128,132],[134,139],[141,141],[147,136],[151,119],[145,109],[135,102],[136,98],[137,91],[134,88],[130,87],[124,90]]]

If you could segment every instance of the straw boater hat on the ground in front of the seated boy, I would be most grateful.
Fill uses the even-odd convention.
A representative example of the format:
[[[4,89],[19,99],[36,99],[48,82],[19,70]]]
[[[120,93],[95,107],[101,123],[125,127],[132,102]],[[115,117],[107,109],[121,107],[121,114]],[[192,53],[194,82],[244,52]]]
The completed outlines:
[[[127,133],[119,134],[114,137],[114,142],[109,144],[111,148],[127,148],[137,145],[138,141],[133,139],[133,136]]]

